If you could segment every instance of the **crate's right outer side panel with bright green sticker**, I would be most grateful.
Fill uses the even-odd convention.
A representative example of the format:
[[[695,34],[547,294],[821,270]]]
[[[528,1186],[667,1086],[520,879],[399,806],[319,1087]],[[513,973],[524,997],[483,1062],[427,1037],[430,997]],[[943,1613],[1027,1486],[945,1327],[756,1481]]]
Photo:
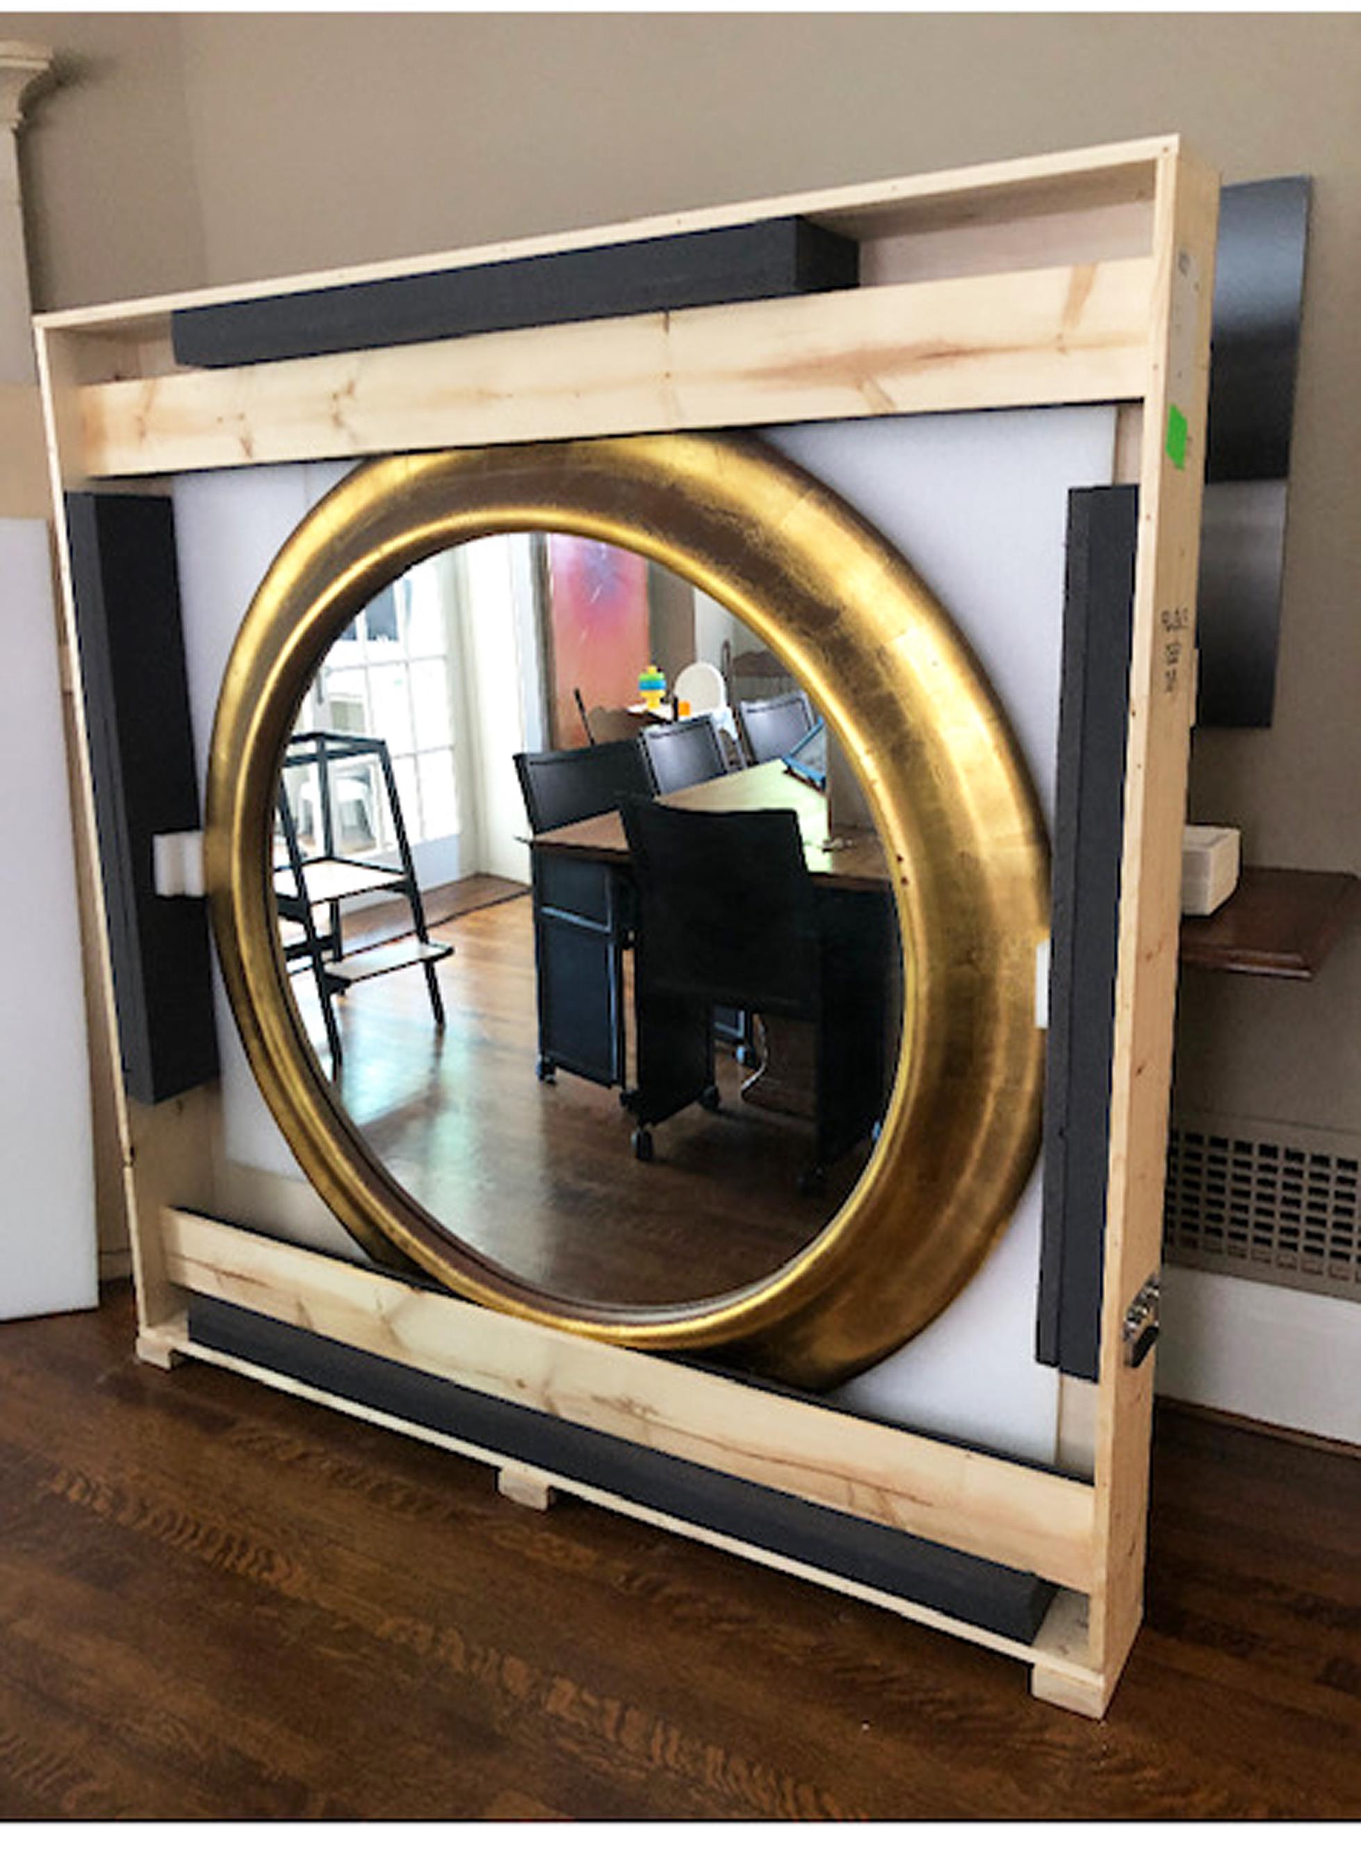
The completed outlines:
[[[1138,1289],[1157,1272],[1163,1240],[1216,211],[1218,178],[1181,150],[1163,154],[1129,671],[1096,1413],[1088,1652],[1105,1698],[1138,1630],[1144,1591],[1153,1357],[1138,1366],[1126,1363],[1122,1324]]]

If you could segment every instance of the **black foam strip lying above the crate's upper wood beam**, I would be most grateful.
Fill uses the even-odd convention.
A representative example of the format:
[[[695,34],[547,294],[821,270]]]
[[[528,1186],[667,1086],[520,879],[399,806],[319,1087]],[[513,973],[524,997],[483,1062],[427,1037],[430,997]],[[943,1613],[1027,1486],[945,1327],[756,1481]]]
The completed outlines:
[[[859,267],[853,239],[807,219],[766,219],[174,310],[171,337],[180,365],[241,367],[504,328],[851,289]]]

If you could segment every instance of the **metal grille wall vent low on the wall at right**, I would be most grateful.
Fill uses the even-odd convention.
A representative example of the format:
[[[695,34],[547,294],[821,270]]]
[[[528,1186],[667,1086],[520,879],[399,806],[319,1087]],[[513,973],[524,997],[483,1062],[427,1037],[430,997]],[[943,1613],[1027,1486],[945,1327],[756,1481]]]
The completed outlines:
[[[1361,1300],[1359,1179],[1352,1135],[1179,1116],[1168,1137],[1164,1257]]]

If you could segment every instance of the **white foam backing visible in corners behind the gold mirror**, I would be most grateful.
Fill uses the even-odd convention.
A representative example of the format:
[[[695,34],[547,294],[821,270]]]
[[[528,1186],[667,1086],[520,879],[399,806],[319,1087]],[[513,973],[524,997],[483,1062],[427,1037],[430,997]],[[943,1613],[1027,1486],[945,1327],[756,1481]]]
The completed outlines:
[[[1111,482],[1114,410],[853,419],[762,434],[907,556],[964,630],[1053,819],[1068,491]],[[349,465],[282,465],[174,486],[195,742],[206,768],[235,627],[274,552]],[[226,1153],[299,1175],[217,983]],[[836,1392],[870,1416],[1053,1463],[1059,1378],[1035,1363],[1040,1174],[973,1281],[901,1352]]]

